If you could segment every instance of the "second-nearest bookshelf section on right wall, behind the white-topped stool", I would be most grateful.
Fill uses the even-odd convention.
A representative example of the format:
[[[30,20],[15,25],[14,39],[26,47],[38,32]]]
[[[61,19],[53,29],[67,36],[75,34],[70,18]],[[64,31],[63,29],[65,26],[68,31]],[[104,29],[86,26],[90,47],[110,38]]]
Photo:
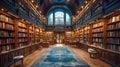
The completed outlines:
[[[103,20],[96,20],[92,25],[92,44],[104,48]]]

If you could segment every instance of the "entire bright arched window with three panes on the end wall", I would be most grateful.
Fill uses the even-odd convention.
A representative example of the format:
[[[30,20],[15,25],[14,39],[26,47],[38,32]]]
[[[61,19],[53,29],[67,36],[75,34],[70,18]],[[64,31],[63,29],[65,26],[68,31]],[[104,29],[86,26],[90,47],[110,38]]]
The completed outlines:
[[[48,13],[48,25],[71,25],[70,12],[64,9],[54,9]]]

